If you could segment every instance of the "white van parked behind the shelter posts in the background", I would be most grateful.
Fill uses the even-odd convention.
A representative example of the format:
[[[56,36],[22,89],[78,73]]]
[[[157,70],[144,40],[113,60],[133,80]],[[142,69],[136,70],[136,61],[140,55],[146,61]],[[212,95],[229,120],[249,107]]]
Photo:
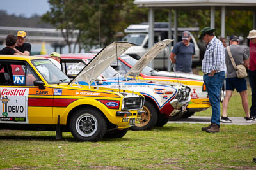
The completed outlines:
[[[125,33],[128,33],[122,41],[128,41],[129,43],[136,44],[129,48],[125,54],[130,55],[134,59],[140,59],[148,51],[148,23],[144,22],[141,24],[132,24],[125,29]],[[168,22],[154,22],[154,43],[157,43],[163,39],[168,39]],[[193,36],[193,31],[199,31],[199,28],[178,28],[177,29],[177,42],[182,41],[182,32],[189,31],[191,32],[191,43],[195,45],[195,56],[193,62],[200,61],[200,50],[196,43],[196,40]],[[172,29],[172,32],[174,28]],[[172,38],[173,39],[173,38]],[[171,50],[173,48],[173,42],[171,44]],[[168,46],[162,50],[157,57],[154,59],[154,69],[164,70],[168,69],[168,60],[170,53]]]

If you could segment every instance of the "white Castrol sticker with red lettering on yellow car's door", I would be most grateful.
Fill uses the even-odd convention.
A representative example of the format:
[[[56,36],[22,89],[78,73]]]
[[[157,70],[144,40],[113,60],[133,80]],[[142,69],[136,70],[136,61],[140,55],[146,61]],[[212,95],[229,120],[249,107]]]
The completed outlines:
[[[0,87],[1,96],[28,96],[29,88]]]

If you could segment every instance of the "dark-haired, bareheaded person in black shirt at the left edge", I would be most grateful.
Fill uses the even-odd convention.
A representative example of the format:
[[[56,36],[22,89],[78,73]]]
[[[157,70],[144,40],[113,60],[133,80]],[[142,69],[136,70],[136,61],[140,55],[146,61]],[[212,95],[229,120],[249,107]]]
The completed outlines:
[[[15,50],[13,49],[16,41],[17,37],[13,34],[9,34],[5,39],[6,46],[2,50],[0,50],[0,54],[19,55],[19,53],[15,52]]]

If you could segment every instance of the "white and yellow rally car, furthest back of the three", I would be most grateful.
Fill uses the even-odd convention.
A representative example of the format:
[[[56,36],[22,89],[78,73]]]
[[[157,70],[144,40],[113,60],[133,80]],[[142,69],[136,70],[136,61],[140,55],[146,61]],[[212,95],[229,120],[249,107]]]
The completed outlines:
[[[165,40],[164,40],[165,41]],[[160,41],[163,42],[163,41]],[[164,45],[159,45],[156,43],[152,48],[148,50],[140,60],[136,60],[129,55],[121,55],[118,57],[118,62],[113,62],[111,66],[115,68],[118,73],[122,76],[133,76],[134,78],[147,80],[147,81],[170,81],[173,83],[182,83],[188,85],[191,89],[190,96],[191,101],[187,107],[187,110],[180,114],[180,117],[187,118],[194,115],[195,112],[204,111],[211,106],[209,102],[209,96],[203,81],[203,77],[194,74],[186,73],[175,73],[168,71],[157,71],[148,67],[148,64],[155,59],[158,53],[166,48]],[[225,88],[223,88],[225,89]],[[221,101],[223,101],[225,96],[225,91],[221,92]],[[172,120],[179,119],[180,117],[172,118]]]

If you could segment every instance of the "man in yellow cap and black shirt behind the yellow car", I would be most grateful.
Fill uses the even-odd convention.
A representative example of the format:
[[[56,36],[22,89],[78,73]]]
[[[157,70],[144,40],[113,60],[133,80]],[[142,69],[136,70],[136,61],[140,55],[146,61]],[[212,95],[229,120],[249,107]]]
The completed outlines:
[[[14,48],[15,52],[19,53],[19,55],[30,55],[31,52],[31,44],[25,43],[26,40],[26,32],[18,31],[17,32],[17,43]]]

